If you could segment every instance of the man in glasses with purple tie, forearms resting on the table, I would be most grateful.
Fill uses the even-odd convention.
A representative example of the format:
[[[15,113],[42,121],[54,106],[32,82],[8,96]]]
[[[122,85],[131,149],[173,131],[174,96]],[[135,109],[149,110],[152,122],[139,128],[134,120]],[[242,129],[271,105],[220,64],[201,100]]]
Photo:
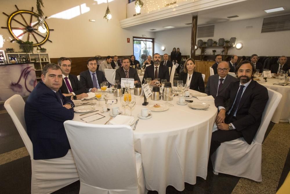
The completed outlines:
[[[62,95],[69,99],[82,99],[88,97],[86,89],[79,83],[77,76],[69,74],[71,70],[70,58],[61,57],[57,61],[62,71],[62,86],[60,87]]]

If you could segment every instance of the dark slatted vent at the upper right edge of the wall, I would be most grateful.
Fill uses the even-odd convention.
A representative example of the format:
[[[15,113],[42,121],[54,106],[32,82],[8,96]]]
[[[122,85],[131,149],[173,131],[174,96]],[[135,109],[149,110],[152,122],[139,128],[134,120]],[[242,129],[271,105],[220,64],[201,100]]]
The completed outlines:
[[[290,14],[264,18],[261,33],[288,30],[290,30]]]

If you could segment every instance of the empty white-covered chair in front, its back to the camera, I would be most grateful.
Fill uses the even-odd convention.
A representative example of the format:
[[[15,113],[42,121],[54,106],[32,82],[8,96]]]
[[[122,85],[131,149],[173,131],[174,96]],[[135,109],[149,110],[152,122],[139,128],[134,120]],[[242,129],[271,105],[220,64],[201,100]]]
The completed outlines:
[[[141,154],[128,125],[65,121],[80,177],[80,193],[145,193]]]

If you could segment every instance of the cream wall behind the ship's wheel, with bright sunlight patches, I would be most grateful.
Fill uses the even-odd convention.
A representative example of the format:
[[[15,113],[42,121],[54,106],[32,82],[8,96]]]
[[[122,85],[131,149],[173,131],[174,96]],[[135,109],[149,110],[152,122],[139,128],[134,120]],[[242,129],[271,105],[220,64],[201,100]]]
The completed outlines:
[[[69,3],[68,3],[69,2]],[[121,29],[119,20],[126,18],[126,4],[128,0],[109,0],[109,8],[112,14],[112,20],[108,22],[103,19],[107,3],[105,0],[50,0],[44,1],[44,15],[51,15],[63,12],[70,8],[77,7],[77,11],[70,12],[82,13],[71,19],[48,18],[46,22],[51,31],[49,39],[42,47],[47,49],[51,58],[61,56],[67,57],[88,57],[88,56],[107,56],[107,55],[131,55],[133,53],[133,36],[147,35],[154,38],[155,33],[144,32],[139,30]],[[19,9],[31,10],[34,7],[36,11],[35,0],[10,0],[1,1],[3,12],[10,15],[16,11],[14,5]],[[81,6],[82,5],[82,6]],[[88,11],[89,10],[89,11]],[[88,12],[87,12],[88,11]],[[65,14],[68,17],[70,14]],[[0,26],[6,26],[8,17],[0,14]],[[95,19],[96,22],[89,22],[89,19]],[[21,18],[19,18],[21,20]],[[11,43],[11,35],[7,29],[0,28],[0,49],[5,50],[13,47],[16,51],[20,51],[16,42]],[[3,44],[1,40],[3,38]],[[130,43],[127,43],[130,38]],[[30,41],[34,41],[30,38]],[[35,42],[35,41],[34,41]],[[114,44],[112,44],[112,42]]]

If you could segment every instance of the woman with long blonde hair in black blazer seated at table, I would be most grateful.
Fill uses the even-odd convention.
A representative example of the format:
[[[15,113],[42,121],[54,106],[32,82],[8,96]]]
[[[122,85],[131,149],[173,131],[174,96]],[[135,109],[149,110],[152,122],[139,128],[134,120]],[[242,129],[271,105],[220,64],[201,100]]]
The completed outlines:
[[[204,93],[204,81],[200,72],[195,72],[195,61],[189,58],[184,63],[184,71],[179,74],[178,80],[182,80],[187,88]],[[190,83],[190,84],[189,84]]]

